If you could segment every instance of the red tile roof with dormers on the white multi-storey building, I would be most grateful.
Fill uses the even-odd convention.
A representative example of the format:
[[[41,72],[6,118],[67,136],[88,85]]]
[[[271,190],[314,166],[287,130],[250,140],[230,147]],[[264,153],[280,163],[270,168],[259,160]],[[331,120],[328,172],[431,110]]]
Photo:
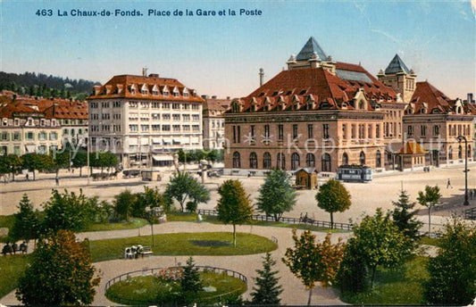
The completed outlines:
[[[147,87],[147,94],[141,93],[141,88],[143,86]],[[136,87],[136,94],[131,93],[131,87]],[[159,89],[158,95],[153,95],[153,88],[157,87]],[[163,88],[168,87],[169,95],[163,95]],[[179,90],[178,96],[173,96],[172,91],[177,87]],[[89,95],[88,99],[105,99],[105,98],[134,98],[134,99],[147,99],[147,100],[167,100],[167,101],[184,101],[184,102],[196,102],[203,103],[204,99],[198,95],[193,95],[193,90],[188,89],[188,96],[184,96],[185,87],[177,79],[170,78],[159,78],[157,76],[151,75],[149,77],[145,76],[134,76],[134,75],[121,75],[114,76],[112,79],[107,81],[102,87],[95,87],[95,93]],[[107,92],[107,89],[110,92]]]

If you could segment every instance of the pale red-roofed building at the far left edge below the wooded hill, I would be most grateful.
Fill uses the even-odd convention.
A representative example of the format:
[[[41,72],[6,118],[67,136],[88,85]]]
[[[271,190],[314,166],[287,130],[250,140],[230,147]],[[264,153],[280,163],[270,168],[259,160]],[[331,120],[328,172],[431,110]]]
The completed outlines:
[[[24,104],[0,104],[0,154],[49,154],[62,145],[58,120]]]

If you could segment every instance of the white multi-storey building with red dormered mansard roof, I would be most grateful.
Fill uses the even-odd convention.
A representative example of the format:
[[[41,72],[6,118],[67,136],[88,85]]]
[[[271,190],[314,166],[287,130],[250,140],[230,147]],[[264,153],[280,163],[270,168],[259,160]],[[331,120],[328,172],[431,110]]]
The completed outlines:
[[[202,148],[202,104],[177,79],[121,75],[88,97],[90,146],[125,168],[173,164],[173,152]]]

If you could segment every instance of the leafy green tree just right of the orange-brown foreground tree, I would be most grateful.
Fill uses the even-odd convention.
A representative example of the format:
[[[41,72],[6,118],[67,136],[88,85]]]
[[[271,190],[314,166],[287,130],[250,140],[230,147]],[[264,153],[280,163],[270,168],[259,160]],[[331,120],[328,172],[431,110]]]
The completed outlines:
[[[384,215],[381,208],[374,216],[367,215],[360,225],[354,226],[351,244],[355,244],[355,250],[360,251],[371,271],[371,287],[378,266],[396,267],[405,260],[410,253],[407,240],[390,219],[390,213]]]

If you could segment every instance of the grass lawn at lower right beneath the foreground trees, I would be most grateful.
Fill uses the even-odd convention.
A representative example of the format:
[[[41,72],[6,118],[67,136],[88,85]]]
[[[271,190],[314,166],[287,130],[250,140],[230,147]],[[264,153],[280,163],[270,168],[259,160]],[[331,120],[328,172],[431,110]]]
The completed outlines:
[[[355,304],[420,304],[422,281],[428,278],[427,262],[426,257],[414,257],[398,270],[379,270],[372,291],[340,297]]]

